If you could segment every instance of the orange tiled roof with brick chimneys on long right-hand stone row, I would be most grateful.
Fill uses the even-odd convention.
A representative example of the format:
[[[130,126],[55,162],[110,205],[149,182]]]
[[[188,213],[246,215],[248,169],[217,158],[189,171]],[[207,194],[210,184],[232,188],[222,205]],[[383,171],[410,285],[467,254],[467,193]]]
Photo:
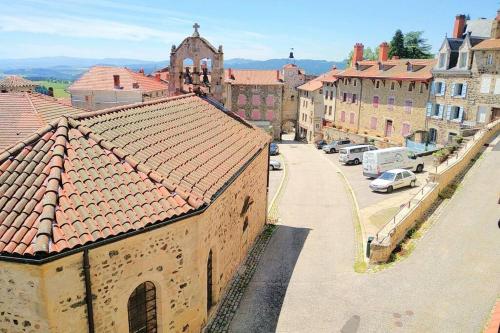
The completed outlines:
[[[413,71],[408,71],[408,63],[414,66]],[[427,81],[432,79],[431,70],[435,64],[436,59],[387,60],[382,63],[384,70],[380,70],[378,61],[364,60],[358,62],[358,69],[355,67],[346,68],[337,74],[337,77]]]

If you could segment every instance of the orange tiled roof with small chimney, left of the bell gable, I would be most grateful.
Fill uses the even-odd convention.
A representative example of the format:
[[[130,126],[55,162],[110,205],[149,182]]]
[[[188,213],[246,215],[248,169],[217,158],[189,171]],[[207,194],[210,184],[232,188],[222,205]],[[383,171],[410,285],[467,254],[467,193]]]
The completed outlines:
[[[68,90],[115,90],[113,75],[120,75],[120,86],[127,91],[158,91],[168,90],[168,85],[154,78],[136,73],[128,68],[94,66],[81,78],[76,80]],[[134,88],[138,83],[138,88]]]

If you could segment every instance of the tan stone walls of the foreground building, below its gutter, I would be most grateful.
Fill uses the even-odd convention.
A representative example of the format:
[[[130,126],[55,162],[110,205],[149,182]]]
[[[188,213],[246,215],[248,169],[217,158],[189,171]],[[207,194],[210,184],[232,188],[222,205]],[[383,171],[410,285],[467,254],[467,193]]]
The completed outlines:
[[[200,332],[210,315],[209,251],[217,303],[265,224],[267,169],[264,149],[204,212],[89,249],[95,331],[127,332],[129,296],[150,281],[158,332]],[[0,332],[86,332],[82,258],[2,262]]]

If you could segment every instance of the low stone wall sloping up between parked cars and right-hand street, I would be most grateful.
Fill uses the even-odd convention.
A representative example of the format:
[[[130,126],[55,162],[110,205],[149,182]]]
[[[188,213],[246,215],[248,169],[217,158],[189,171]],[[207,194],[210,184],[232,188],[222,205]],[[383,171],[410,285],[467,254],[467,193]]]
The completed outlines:
[[[421,220],[438,198],[439,193],[447,187],[477,156],[485,143],[489,142],[500,131],[500,120],[489,124],[478,132],[458,155],[447,164],[437,167],[437,172],[429,174],[429,183],[417,193],[378,233],[370,245],[370,263],[387,262],[392,251],[404,239],[406,233]]]

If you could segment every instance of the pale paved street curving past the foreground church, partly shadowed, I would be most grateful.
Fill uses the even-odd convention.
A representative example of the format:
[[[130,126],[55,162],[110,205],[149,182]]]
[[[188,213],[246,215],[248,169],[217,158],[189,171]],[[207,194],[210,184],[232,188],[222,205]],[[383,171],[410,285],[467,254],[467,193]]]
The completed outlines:
[[[281,225],[231,332],[481,330],[500,293],[500,145],[469,171],[412,255],[372,274],[353,271],[351,202],[332,165],[310,145],[280,150],[289,172]]]

